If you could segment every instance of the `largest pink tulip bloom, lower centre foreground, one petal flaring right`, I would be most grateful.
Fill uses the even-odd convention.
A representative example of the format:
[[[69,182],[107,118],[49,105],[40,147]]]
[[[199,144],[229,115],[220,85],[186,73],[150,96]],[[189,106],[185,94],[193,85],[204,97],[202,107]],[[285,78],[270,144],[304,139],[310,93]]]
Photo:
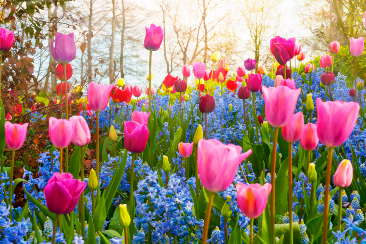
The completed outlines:
[[[202,185],[210,192],[228,188],[240,163],[251,154],[251,150],[240,154],[242,150],[240,146],[225,145],[216,139],[199,140],[198,173]]]

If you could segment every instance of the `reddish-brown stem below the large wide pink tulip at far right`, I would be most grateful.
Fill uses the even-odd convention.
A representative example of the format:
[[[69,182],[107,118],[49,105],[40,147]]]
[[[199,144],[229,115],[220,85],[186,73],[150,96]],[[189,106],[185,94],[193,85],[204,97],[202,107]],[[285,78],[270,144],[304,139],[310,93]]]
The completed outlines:
[[[329,209],[329,184],[330,184],[330,170],[332,168],[332,158],[333,158],[333,148],[330,147],[330,148],[328,148],[328,162],[326,163],[322,244],[326,244],[326,239],[327,239],[328,209]]]

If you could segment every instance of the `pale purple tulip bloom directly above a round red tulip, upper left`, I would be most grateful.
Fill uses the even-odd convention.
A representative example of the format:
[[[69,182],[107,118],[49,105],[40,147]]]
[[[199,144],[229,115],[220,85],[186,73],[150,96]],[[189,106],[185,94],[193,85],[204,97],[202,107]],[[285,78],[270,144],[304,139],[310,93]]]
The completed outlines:
[[[51,55],[60,63],[70,63],[76,55],[74,33],[64,35],[60,32],[56,34],[55,47],[53,47],[53,37],[51,39]]]

